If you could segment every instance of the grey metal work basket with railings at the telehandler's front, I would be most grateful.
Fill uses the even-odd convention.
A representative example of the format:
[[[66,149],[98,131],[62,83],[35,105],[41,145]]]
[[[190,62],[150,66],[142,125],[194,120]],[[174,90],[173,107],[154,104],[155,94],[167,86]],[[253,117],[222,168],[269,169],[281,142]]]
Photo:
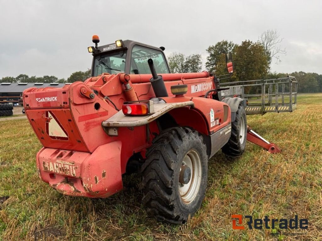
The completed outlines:
[[[238,96],[248,99],[246,114],[292,112],[296,109],[298,82],[295,77],[246,80],[220,83],[222,97]]]

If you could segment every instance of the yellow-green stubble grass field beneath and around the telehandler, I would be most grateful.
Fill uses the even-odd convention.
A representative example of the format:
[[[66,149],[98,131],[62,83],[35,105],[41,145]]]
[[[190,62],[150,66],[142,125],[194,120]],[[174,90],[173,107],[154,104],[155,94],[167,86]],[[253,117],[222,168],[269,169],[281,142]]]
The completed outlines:
[[[146,216],[139,176],[126,177],[125,189],[107,199],[63,196],[51,189],[37,175],[41,144],[28,121],[2,121],[0,240],[322,240],[321,113],[322,94],[301,94],[293,113],[248,116],[253,130],[282,153],[248,143],[237,159],[216,154],[209,161],[202,208],[181,226]],[[298,215],[309,226],[307,235],[295,237],[279,229],[233,230],[232,214]]]

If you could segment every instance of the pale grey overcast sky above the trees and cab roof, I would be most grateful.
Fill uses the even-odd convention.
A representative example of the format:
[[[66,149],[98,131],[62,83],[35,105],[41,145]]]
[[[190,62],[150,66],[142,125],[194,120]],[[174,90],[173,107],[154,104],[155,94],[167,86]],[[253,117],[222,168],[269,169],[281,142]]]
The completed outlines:
[[[101,45],[129,39],[165,53],[199,53],[221,40],[258,40],[269,29],[284,38],[277,72],[322,74],[322,1],[13,1],[0,0],[0,78],[87,70],[91,36]]]

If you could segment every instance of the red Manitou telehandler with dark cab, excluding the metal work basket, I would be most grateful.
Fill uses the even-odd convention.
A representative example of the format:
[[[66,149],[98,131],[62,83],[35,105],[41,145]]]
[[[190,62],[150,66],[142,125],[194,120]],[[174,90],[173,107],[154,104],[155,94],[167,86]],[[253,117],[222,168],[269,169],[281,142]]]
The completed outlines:
[[[23,93],[43,144],[39,176],[58,192],[106,198],[122,190],[123,174],[140,172],[147,213],[184,223],[202,204],[207,163],[219,150],[242,155],[249,139],[279,151],[247,128],[246,99],[221,99],[212,73],[170,74],[164,47],[92,40],[92,77]],[[231,53],[226,61],[231,74]]]

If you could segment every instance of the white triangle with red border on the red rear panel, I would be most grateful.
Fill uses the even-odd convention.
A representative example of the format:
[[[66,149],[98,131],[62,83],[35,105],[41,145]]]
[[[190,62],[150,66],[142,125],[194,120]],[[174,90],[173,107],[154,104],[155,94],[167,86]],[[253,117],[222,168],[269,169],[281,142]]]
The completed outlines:
[[[68,133],[51,111],[46,111],[46,133],[52,139],[68,140]]]

